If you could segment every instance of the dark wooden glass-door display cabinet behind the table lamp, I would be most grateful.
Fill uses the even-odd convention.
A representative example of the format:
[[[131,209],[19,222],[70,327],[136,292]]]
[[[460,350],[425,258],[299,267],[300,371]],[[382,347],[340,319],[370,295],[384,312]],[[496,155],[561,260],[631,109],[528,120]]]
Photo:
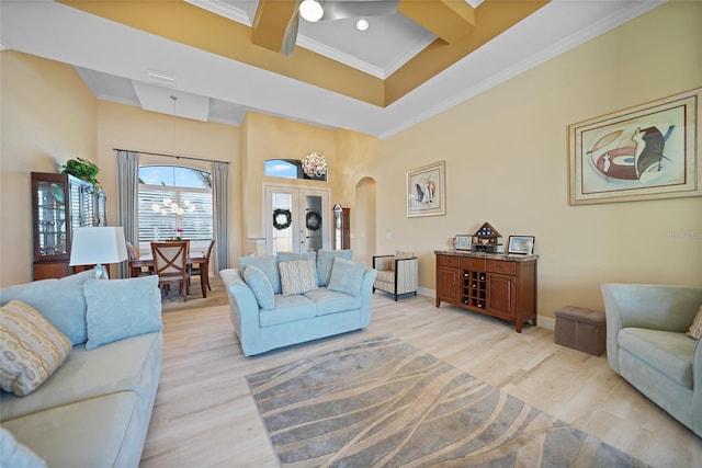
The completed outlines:
[[[90,183],[67,174],[32,172],[34,279],[60,278],[72,267],[71,233],[83,226],[106,226],[106,198]]]

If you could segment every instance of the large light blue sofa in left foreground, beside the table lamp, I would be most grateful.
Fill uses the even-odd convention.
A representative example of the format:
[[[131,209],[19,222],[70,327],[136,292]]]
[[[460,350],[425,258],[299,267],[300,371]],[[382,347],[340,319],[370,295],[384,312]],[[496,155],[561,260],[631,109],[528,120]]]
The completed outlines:
[[[18,304],[30,308],[18,312]],[[18,334],[12,312],[43,321],[33,309],[69,351],[25,395],[4,391],[16,369],[2,363],[0,465],[137,467],[161,373],[158,277],[104,281],[87,271],[0,289],[0,306],[4,347]]]

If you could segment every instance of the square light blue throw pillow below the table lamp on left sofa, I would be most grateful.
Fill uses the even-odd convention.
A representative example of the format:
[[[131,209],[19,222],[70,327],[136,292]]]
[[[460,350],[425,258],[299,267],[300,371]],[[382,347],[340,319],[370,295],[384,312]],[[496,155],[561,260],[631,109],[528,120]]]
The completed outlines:
[[[157,275],[128,279],[88,279],[83,293],[88,304],[88,351],[163,329]]]

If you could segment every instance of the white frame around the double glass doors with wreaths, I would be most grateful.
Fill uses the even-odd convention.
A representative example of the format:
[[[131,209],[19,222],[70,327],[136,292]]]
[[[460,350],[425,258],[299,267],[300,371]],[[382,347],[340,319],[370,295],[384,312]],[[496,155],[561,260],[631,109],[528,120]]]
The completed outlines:
[[[296,248],[296,252],[303,252],[305,250],[306,239],[305,236],[305,197],[308,195],[321,197],[321,242],[322,249],[330,249],[331,246],[331,190],[319,189],[309,185],[286,185],[286,184],[272,184],[263,183],[263,203],[262,203],[262,216],[263,220],[263,235],[265,237],[265,253],[268,255],[273,253],[273,216],[271,215],[272,196],[273,193],[287,193],[292,196],[292,205],[296,206],[298,216],[293,218],[293,246]]]

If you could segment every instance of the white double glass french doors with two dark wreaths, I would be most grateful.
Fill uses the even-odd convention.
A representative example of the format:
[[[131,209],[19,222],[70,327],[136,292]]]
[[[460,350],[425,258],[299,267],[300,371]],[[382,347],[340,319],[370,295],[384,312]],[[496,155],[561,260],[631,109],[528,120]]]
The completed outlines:
[[[307,252],[329,249],[329,190],[263,186],[265,252]]]

